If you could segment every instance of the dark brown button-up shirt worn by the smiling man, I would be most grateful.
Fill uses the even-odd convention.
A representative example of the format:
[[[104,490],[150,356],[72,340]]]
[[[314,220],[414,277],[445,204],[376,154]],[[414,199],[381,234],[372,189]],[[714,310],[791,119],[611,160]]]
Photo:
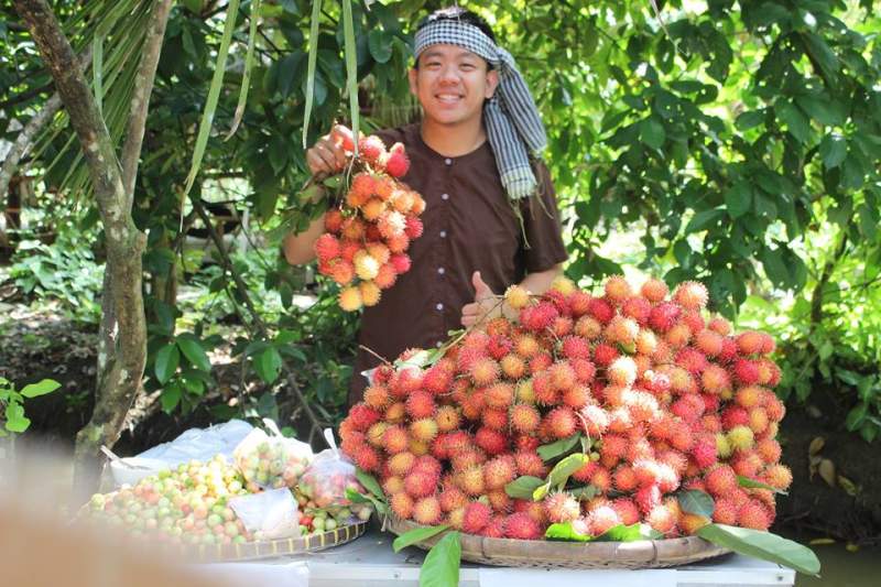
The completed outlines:
[[[489,142],[466,155],[445,157],[425,144],[418,123],[377,134],[388,146],[404,144],[410,171],[402,180],[422,194],[426,207],[424,232],[407,250],[410,271],[382,292],[379,304],[363,311],[359,343],[365,347],[389,360],[411,347],[434,348],[449,330],[461,328],[461,308],[475,296],[475,271],[500,294],[527,273],[566,260],[554,187],[544,164],[536,164],[544,205],[525,199],[521,228]],[[378,363],[359,349],[350,404],[360,401],[367,387],[361,372]]]

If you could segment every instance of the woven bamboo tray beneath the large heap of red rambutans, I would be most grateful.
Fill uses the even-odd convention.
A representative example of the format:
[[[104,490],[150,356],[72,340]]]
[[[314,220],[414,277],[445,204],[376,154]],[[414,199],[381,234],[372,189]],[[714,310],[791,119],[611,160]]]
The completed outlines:
[[[421,528],[391,517],[385,528],[395,534]],[[428,550],[443,534],[416,546]],[[461,534],[461,558],[493,566],[529,568],[663,568],[713,558],[731,551],[697,536],[634,542],[554,542],[488,539]]]

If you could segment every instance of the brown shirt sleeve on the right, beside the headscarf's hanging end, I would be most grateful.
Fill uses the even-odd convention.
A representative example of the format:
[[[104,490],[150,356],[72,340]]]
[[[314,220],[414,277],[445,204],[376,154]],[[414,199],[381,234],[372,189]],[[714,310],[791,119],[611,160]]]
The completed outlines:
[[[568,259],[559,222],[556,192],[547,166],[534,165],[539,194],[521,206],[523,216],[523,258],[529,273],[546,271]]]

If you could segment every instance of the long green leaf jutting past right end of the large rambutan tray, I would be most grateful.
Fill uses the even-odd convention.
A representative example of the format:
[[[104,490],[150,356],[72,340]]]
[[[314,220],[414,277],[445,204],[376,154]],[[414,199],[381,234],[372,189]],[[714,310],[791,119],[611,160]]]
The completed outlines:
[[[805,575],[819,575],[819,561],[811,548],[770,532],[707,524],[697,535],[739,554],[777,563]]]

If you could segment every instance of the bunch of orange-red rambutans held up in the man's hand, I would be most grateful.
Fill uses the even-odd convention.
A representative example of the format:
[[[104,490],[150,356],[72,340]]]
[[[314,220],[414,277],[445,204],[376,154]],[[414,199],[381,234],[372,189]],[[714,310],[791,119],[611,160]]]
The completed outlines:
[[[350,135],[342,146],[354,150]],[[379,137],[363,137],[348,191],[325,214],[326,232],[315,242],[318,271],[341,286],[339,305],[347,312],[376,305],[381,291],[410,270],[406,251],[422,236],[425,200],[399,181],[409,167],[401,143],[387,151]]]

